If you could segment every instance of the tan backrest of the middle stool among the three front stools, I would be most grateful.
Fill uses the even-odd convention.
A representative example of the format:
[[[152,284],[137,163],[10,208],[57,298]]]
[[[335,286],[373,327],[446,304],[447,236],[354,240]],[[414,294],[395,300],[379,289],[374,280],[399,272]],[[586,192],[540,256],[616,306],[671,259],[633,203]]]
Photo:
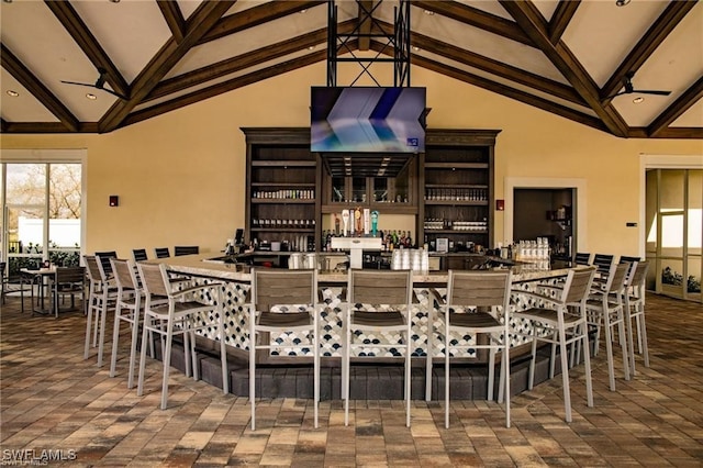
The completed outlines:
[[[350,304],[404,305],[412,303],[412,271],[349,269]]]

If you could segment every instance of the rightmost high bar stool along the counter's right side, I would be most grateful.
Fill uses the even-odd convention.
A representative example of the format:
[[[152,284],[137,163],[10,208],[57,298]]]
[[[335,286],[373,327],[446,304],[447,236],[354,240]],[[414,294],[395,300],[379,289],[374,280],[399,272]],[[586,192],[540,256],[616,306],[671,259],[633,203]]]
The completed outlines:
[[[645,283],[649,261],[637,261],[635,271],[625,283],[625,317],[629,342],[629,367],[635,376],[635,344],[633,342],[633,319],[637,330],[637,350],[645,359],[645,367],[649,367],[649,347],[647,346],[647,324],[645,323]]]

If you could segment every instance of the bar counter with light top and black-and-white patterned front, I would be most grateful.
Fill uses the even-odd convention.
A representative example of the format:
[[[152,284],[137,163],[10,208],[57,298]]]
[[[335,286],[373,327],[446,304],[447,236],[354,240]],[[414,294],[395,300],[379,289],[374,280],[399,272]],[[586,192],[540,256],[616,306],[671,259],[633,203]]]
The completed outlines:
[[[160,261],[167,264],[169,270],[176,274],[187,274],[194,278],[199,283],[221,281],[224,282],[223,309],[226,315],[224,323],[226,344],[232,353],[248,358],[248,303],[247,293],[250,286],[249,268],[239,264],[223,264],[213,261],[213,254],[188,255],[180,257],[170,257]],[[565,277],[568,272],[567,268],[551,270],[531,269],[531,265],[523,265],[514,268],[513,289],[529,290],[533,288],[534,281],[555,280]],[[413,339],[413,357],[426,356],[427,348],[427,311],[428,308],[437,308],[438,297],[446,293],[446,271],[437,271],[429,274],[413,275],[415,303],[411,312],[412,315],[412,339]],[[344,316],[343,293],[347,282],[346,272],[341,271],[321,271],[319,275],[320,283],[320,304],[321,304],[321,336],[322,346],[321,356],[323,357],[341,357],[339,348],[343,343],[342,320]],[[199,298],[203,302],[212,302],[214,294],[203,294]],[[513,294],[513,307],[524,309],[533,305],[520,293]],[[437,313],[434,314],[438,316]],[[437,320],[437,319],[436,319]],[[212,317],[203,317],[203,321],[214,323]],[[435,327],[440,327],[442,322],[435,323]],[[513,327],[525,332],[526,323],[512,323]],[[204,333],[210,339],[216,339],[216,328],[212,327]],[[358,341],[367,341],[368,347],[360,348],[357,355],[375,356],[383,359],[394,359],[402,357],[402,346],[395,348],[381,348],[373,346],[378,343],[400,343],[400,334],[381,334],[359,336]],[[461,344],[470,344],[472,336],[461,337]],[[524,339],[512,337],[513,346],[524,344]],[[279,346],[271,350],[269,356],[263,358],[264,363],[294,363],[295,360],[309,360],[312,358],[312,350],[308,347],[300,347],[298,343],[308,343],[305,337],[299,337],[295,334],[283,334],[279,336],[270,336],[271,344],[277,343]],[[433,346],[433,357],[444,357],[444,343],[435,336]],[[476,360],[477,355],[473,350],[469,350],[464,355],[455,356],[466,358],[467,360]]]

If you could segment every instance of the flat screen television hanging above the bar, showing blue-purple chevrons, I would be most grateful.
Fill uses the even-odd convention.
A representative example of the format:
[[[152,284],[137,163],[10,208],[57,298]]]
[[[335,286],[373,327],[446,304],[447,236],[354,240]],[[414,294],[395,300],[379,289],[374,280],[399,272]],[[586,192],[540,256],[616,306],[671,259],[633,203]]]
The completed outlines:
[[[425,88],[312,87],[310,149],[423,153],[425,101]]]

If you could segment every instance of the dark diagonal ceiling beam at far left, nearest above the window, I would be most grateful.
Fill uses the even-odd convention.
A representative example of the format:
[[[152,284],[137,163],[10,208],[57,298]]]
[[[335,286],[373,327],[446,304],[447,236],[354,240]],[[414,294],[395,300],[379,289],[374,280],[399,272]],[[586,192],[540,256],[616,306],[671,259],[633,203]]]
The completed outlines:
[[[2,68],[8,70],[20,85],[26,88],[42,105],[60,121],[64,132],[67,129],[71,132],[78,131],[78,119],[4,44],[0,44],[0,63]],[[8,125],[11,129],[12,124]]]

